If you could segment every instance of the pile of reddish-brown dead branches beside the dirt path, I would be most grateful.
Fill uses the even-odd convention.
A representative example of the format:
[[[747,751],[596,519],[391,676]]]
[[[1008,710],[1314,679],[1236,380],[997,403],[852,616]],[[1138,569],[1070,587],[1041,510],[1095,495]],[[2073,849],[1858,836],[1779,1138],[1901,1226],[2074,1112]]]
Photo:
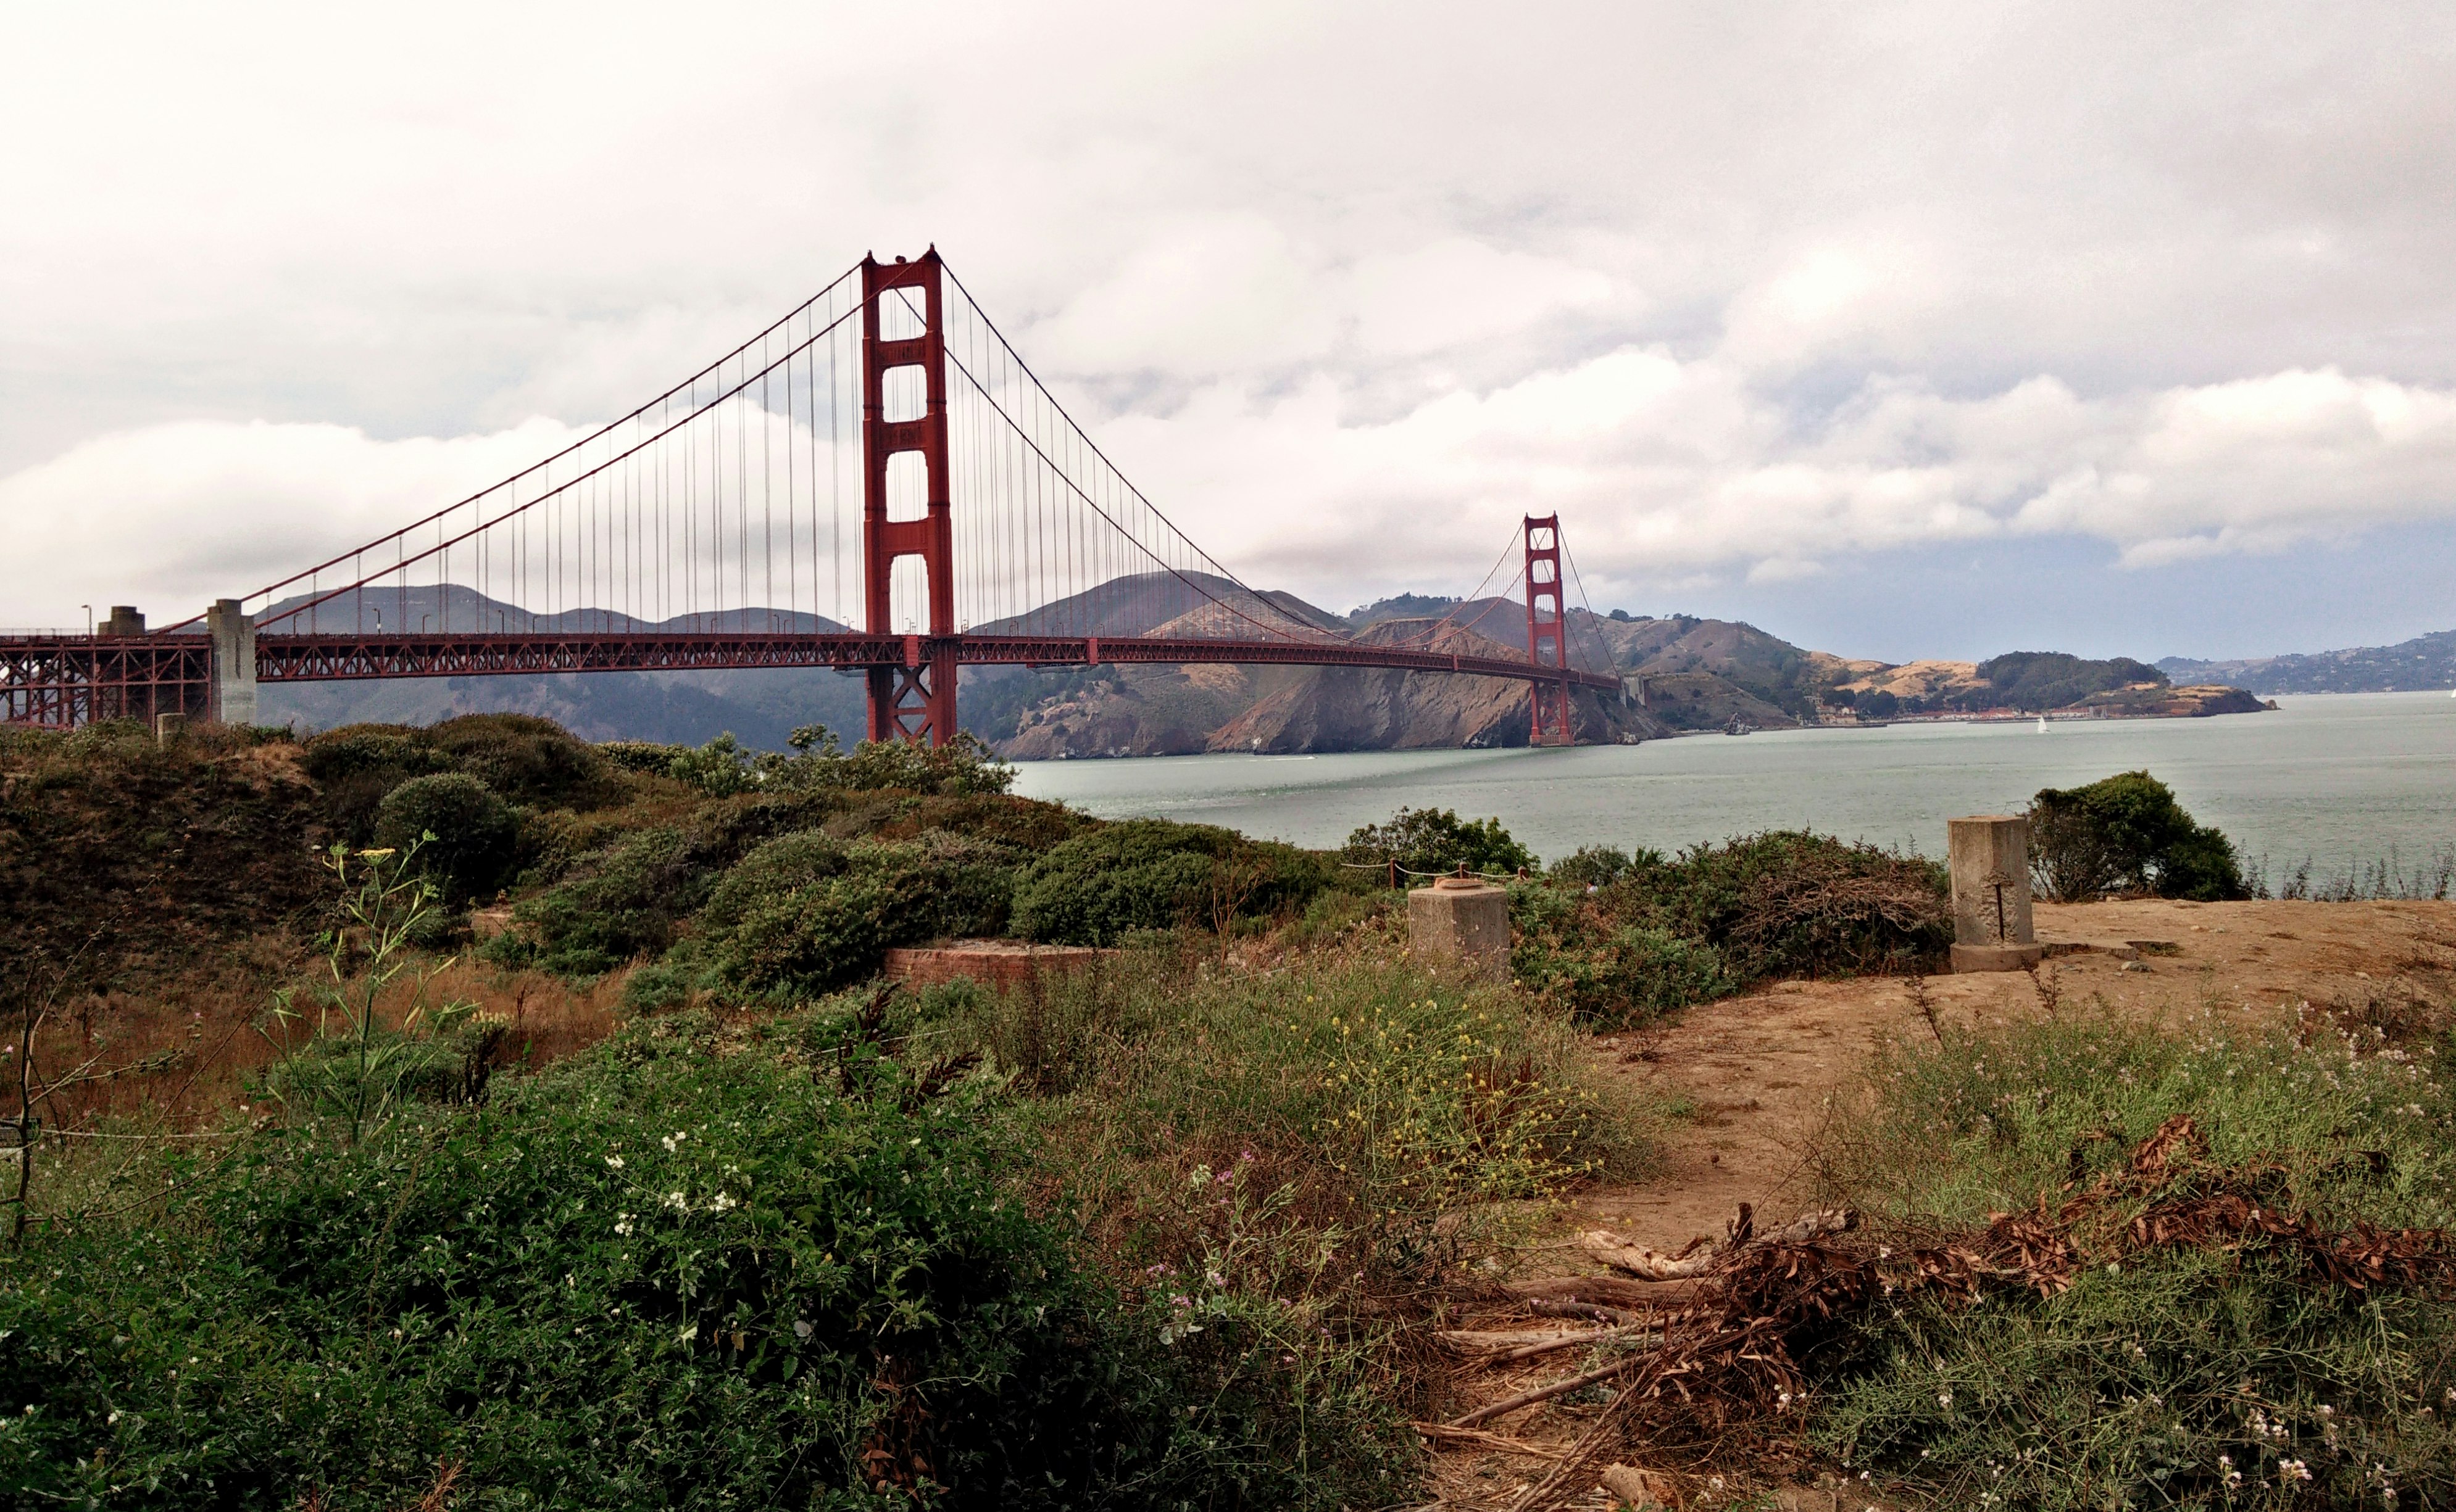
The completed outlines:
[[[1800,1362],[1881,1301],[1970,1303],[1992,1291],[2056,1296],[2088,1267],[2183,1247],[2257,1254],[2348,1289],[2456,1289],[2446,1230],[2326,1227],[2291,1210],[2279,1166],[2213,1166],[2188,1117],[2169,1119],[2097,1181],[2068,1181],[2029,1213],[1997,1213],[1980,1230],[1879,1235],[1857,1213],[1817,1210],[1758,1235],[1741,1205],[1722,1242],[1692,1242],[1675,1254],[1609,1232],[1579,1242],[1638,1281],[1591,1279],[1587,1291],[1609,1306],[1587,1306],[1616,1325],[1574,1335],[1574,1343],[1604,1343],[1643,1325],[1648,1348],[1447,1424],[1479,1431],[1479,1424],[1596,1382],[1619,1387],[1552,1473],[1510,1505],[1513,1512],[1557,1507],[1584,1490],[1596,1460],[1628,1438],[1722,1438],[1734,1426],[1776,1424],[1800,1411],[1810,1384]],[[1633,1294],[1673,1289],[1677,1294],[1660,1306],[1631,1306]],[[1545,1291],[1557,1308],[1579,1284],[1552,1281]]]

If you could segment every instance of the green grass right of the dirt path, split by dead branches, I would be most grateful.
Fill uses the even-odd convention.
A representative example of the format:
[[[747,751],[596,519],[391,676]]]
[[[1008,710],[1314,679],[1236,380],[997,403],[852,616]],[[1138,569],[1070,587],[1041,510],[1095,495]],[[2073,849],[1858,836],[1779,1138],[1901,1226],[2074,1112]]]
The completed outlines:
[[[2267,1193],[2279,1215],[2441,1230],[2456,1217],[2444,1055],[2353,1026],[2174,1033],[2088,1006],[1945,1028],[1879,1055],[1822,1178],[1903,1237],[1967,1232],[1994,1213],[2056,1213],[2183,1114],[2205,1136],[2196,1168]],[[2105,1222],[2127,1222],[2124,1208]],[[2331,1286],[2247,1240],[2134,1249],[2043,1298],[1886,1303],[1813,1370],[1817,1446],[1933,1505],[2456,1497],[2449,1301]]]

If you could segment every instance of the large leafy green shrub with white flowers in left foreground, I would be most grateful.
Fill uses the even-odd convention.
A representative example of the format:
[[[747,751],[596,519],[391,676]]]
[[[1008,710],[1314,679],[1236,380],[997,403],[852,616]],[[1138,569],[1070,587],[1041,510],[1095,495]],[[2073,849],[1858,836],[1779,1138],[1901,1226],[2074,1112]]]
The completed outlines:
[[[1078,1271],[975,1095],[810,1038],[815,1078],[653,1021],[481,1117],[253,1136],[133,1227],[39,1227],[0,1262],[0,1485],[336,1512],[415,1505],[445,1465],[481,1507],[1402,1490],[1356,1426],[1270,1416],[1294,1377],[1260,1335],[1167,1345],[1164,1298]]]

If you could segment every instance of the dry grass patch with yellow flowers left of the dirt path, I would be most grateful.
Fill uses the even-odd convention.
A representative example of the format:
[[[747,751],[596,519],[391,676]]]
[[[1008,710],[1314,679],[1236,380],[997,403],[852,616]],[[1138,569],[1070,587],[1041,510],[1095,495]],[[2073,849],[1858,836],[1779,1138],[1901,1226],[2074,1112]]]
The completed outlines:
[[[1294,1308],[1343,1340],[1319,1389],[1383,1414],[1439,1389],[1397,1323],[1653,1151],[1564,1016],[1405,960],[1373,918],[1287,955],[1174,938],[1041,992],[938,989],[919,1033],[1012,1078],[1034,1200],[1088,1254],[1179,1306]]]

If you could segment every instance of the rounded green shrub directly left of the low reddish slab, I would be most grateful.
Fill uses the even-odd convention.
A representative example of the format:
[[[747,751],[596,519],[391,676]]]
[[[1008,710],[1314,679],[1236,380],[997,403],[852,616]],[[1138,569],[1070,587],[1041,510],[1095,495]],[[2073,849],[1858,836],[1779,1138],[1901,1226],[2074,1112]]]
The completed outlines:
[[[894,945],[1002,933],[1009,893],[1005,859],[950,835],[786,835],[725,874],[695,928],[729,987],[810,994],[872,974]]]

